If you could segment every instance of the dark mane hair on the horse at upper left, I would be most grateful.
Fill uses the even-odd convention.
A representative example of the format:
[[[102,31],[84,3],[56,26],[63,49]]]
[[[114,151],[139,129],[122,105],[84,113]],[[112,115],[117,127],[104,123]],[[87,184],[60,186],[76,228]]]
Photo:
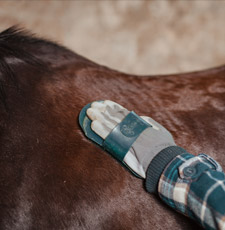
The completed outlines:
[[[56,43],[34,37],[30,32],[12,26],[0,33],[0,103],[7,108],[7,87],[19,90],[19,75],[16,67],[23,70],[33,69],[38,72],[49,72],[52,68],[35,55],[34,47],[64,48]]]

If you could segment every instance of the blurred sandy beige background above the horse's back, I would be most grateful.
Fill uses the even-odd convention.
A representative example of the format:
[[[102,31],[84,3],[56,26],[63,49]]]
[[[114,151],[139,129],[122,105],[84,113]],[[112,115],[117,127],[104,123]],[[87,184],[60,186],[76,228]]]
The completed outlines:
[[[0,1],[18,24],[97,63],[134,74],[225,64],[225,1]]]

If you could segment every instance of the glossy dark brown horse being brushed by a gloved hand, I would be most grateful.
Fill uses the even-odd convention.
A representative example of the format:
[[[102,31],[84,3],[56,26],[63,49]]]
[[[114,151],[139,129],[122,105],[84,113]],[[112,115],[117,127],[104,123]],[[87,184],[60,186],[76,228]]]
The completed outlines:
[[[133,76],[10,28],[0,34],[0,229],[199,229],[84,137],[79,111],[99,99],[151,116],[225,168],[225,67]]]

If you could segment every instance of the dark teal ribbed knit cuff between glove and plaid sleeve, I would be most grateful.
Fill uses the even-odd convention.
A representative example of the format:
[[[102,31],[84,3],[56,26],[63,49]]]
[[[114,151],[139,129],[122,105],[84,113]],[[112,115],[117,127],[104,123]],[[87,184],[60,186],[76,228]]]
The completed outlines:
[[[177,155],[187,153],[179,146],[170,146],[160,151],[151,161],[146,172],[145,187],[149,193],[158,193],[158,182],[165,167]]]

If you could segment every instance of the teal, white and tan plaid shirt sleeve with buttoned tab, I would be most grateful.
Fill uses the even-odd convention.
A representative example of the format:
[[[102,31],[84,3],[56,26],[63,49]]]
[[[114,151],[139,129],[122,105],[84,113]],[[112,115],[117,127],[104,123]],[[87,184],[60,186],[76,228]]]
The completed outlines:
[[[165,168],[160,198],[206,229],[225,230],[225,174],[211,157],[181,154]]]

